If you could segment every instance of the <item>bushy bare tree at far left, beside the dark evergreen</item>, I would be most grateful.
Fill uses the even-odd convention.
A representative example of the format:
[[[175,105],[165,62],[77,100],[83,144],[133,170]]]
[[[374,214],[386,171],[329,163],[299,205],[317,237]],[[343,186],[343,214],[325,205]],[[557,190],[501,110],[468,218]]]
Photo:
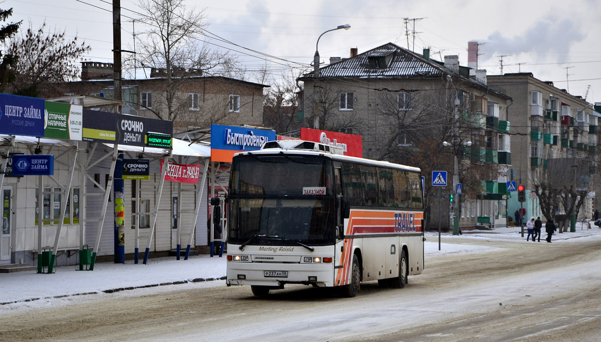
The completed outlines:
[[[64,30],[47,34],[45,29],[46,23],[39,29],[29,23],[24,34],[8,43],[8,52],[17,56],[13,67],[16,77],[10,83],[14,94],[52,97],[58,94],[55,84],[79,77],[78,61],[90,46],[79,43],[77,37],[68,40]]]

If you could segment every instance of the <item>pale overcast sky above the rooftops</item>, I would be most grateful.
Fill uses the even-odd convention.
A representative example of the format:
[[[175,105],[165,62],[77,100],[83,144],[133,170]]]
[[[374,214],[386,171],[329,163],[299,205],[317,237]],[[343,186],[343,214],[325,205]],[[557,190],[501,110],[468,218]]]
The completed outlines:
[[[136,3],[121,0],[125,50],[133,50],[132,31],[145,29],[132,23],[131,18],[140,17],[129,11],[139,11]],[[111,4],[111,0],[6,0],[0,8],[14,8],[9,20],[23,20],[23,31],[29,22],[38,28],[45,20],[47,31],[65,29],[67,35],[90,44],[87,61],[112,62]],[[583,98],[588,89],[587,101],[601,101],[598,0],[186,0],[185,4],[204,11],[209,32],[239,45],[209,40],[234,49],[248,70],[257,70],[265,59],[274,76],[289,67],[296,68],[295,74],[310,70],[319,35],[348,23],[352,27],[347,31],[323,35],[322,62],[331,56],[348,57],[351,47],[362,53],[385,43],[407,47],[408,41],[416,52],[430,47],[432,58],[459,55],[460,64],[467,66],[468,41],[478,41],[486,43],[480,45],[478,66],[488,74],[501,73],[499,60],[504,56],[503,73],[531,72]]]

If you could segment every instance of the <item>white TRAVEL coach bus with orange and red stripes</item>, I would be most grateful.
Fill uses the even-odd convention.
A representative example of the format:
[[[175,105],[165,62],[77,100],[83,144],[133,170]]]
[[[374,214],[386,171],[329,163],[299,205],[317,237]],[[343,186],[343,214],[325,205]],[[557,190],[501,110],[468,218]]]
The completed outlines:
[[[420,170],[267,142],[234,155],[227,197],[227,286],[257,296],[285,284],[404,287],[424,269]],[[212,201],[213,202],[213,201]]]

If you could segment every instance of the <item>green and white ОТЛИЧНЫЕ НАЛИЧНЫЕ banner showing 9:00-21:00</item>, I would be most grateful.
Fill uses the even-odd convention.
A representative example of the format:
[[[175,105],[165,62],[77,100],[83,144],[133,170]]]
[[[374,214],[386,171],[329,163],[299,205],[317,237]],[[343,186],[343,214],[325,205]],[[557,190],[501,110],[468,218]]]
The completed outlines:
[[[44,137],[81,140],[83,107],[76,104],[47,102],[44,108]]]

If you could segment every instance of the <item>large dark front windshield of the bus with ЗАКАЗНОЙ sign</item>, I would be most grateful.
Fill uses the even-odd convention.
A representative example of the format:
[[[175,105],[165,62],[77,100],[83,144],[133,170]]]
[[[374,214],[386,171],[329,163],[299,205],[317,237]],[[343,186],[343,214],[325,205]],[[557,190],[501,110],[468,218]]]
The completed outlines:
[[[228,242],[333,244],[334,186],[327,158],[294,155],[234,158]]]

